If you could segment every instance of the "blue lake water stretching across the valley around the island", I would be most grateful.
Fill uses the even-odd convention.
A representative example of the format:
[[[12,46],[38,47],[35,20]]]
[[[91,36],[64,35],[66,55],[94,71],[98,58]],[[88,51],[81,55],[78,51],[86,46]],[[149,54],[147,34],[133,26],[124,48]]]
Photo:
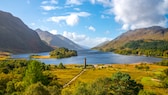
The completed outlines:
[[[37,55],[49,55],[49,52],[33,53]],[[29,59],[30,54],[16,54],[12,55],[12,58],[25,58]],[[159,62],[162,58],[134,56],[134,55],[120,55],[112,52],[101,52],[97,50],[79,50],[78,56],[63,58],[63,59],[36,59],[46,64],[83,64],[84,58],[87,59],[87,64],[125,64],[125,63],[137,63],[137,62]]]

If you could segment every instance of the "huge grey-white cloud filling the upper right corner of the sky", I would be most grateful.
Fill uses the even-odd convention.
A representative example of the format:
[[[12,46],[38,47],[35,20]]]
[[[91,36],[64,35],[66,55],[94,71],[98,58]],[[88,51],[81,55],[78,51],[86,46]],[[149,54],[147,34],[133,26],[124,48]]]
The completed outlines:
[[[102,0],[103,1],[103,0]],[[168,0],[113,0],[115,20],[123,24],[122,29],[150,26],[166,26]]]

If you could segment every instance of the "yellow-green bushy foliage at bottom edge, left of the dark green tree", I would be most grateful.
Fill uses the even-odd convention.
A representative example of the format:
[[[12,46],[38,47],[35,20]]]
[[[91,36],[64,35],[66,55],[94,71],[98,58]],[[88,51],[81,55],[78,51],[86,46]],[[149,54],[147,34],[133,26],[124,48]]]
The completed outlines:
[[[108,95],[110,82],[109,78],[97,79],[93,83],[79,82],[72,95]]]

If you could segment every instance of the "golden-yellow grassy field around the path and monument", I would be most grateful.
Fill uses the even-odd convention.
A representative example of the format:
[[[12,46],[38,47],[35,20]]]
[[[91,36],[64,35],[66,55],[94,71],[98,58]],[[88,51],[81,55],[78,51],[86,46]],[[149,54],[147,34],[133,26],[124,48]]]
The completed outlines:
[[[137,69],[136,66],[148,66],[148,69]],[[58,81],[64,85],[82,69],[76,65],[67,65],[67,69],[53,69],[51,73],[57,75]],[[121,71],[131,75],[131,78],[143,84],[144,89],[155,92],[158,95],[166,95],[168,89],[161,88],[158,76],[168,67],[154,64],[111,64],[97,65],[95,68],[88,68],[86,71],[64,89],[73,89],[78,82],[90,83],[98,78],[111,77],[113,73]]]

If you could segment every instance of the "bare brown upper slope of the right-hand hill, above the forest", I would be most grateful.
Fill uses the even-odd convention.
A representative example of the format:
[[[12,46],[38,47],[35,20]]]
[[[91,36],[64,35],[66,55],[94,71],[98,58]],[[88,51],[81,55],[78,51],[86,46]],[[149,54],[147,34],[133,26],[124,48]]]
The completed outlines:
[[[109,43],[101,46],[95,47],[94,49],[100,50],[110,50],[110,49],[118,49],[124,46],[126,43],[137,40],[166,40],[168,41],[168,28],[163,28],[159,26],[153,26],[149,28],[141,28],[130,30],[116,39],[110,41]]]

